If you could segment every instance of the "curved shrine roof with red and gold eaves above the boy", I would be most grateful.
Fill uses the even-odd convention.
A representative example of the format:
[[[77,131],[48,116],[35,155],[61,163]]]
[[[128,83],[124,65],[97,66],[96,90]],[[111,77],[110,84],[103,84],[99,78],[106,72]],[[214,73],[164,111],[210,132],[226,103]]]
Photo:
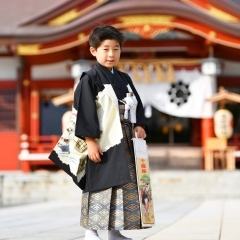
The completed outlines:
[[[239,0],[0,0],[0,6],[0,45],[35,44],[26,46],[33,54],[82,44],[99,23],[122,30],[165,24],[169,35],[180,29],[240,49]]]

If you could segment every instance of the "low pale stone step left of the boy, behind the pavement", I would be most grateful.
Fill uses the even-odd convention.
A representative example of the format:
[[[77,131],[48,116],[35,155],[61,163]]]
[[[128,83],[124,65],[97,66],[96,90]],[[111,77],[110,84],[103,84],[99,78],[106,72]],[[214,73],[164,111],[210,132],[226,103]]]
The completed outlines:
[[[0,206],[81,199],[81,191],[62,170],[0,173]]]

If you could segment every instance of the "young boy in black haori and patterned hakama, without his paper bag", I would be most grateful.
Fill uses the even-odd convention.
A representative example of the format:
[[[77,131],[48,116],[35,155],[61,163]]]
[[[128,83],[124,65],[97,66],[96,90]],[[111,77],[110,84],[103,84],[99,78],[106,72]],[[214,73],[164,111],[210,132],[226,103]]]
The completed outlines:
[[[90,52],[97,62],[80,78],[74,92],[75,127],[67,128],[73,135],[75,128],[73,141],[80,150],[71,152],[63,134],[49,157],[74,179],[85,171],[80,182],[75,180],[83,189],[80,225],[86,228],[85,240],[99,240],[97,230],[108,230],[109,240],[130,240],[119,230],[142,228],[132,133],[145,138],[147,126],[130,77],[115,68],[123,41],[112,26],[92,30]]]

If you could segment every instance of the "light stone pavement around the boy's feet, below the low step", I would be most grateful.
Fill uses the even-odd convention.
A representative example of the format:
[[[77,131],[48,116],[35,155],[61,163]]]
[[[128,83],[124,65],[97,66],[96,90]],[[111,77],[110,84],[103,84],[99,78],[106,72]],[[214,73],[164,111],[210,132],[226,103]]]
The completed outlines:
[[[157,203],[157,204],[156,204]],[[155,202],[152,229],[123,231],[134,240],[239,240],[240,199]],[[46,202],[0,210],[0,239],[83,240],[79,202]],[[105,231],[99,233],[107,240]]]

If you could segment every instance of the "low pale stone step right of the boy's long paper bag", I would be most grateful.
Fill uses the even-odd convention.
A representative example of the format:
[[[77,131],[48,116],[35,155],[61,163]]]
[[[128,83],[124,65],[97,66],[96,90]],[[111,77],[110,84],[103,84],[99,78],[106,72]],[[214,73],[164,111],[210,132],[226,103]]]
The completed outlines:
[[[165,170],[151,171],[156,198],[239,198],[240,171]],[[157,191],[154,192],[154,189]]]

